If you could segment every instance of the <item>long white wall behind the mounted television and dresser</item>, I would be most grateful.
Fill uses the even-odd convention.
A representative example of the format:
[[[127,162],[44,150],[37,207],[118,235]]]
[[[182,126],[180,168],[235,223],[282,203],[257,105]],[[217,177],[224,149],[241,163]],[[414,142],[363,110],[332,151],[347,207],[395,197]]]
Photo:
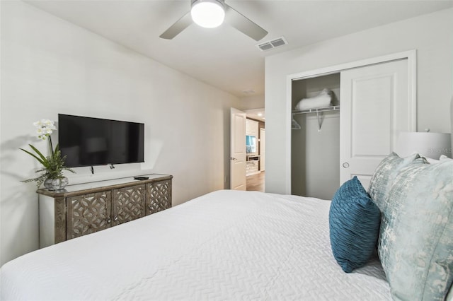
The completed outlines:
[[[32,123],[58,113],[145,124],[145,163],[76,168],[73,184],[173,175],[173,206],[229,184],[238,98],[21,1],[1,2],[0,264],[38,248]],[[54,139],[56,139],[55,136]]]

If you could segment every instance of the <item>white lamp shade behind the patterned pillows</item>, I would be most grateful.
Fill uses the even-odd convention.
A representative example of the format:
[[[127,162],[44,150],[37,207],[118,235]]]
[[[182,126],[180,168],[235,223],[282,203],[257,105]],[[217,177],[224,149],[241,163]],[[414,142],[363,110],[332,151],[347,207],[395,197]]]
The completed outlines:
[[[425,158],[436,160],[441,155],[452,158],[451,135],[430,132],[401,132],[395,151],[400,157],[419,153]]]

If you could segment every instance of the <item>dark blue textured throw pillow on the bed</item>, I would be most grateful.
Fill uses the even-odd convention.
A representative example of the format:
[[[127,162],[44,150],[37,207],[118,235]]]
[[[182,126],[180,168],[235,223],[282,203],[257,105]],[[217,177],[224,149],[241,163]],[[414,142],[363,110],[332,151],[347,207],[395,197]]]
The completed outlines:
[[[343,271],[364,266],[377,246],[381,213],[357,177],[336,191],[328,222],[333,256]]]

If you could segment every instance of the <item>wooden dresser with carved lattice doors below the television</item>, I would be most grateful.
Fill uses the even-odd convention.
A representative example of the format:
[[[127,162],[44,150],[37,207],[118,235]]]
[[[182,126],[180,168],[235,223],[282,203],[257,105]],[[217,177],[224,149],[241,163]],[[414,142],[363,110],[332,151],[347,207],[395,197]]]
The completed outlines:
[[[171,175],[144,175],[39,189],[40,248],[171,207]]]

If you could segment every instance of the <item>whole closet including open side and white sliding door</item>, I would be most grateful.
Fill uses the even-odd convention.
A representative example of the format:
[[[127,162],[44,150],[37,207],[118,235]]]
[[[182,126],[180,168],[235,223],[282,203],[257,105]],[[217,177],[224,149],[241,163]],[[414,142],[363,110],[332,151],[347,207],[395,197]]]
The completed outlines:
[[[291,192],[332,199],[343,182],[357,176],[367,189],[401,131],[415,131],[415,70],[408,59],[340,69],[291,82]],[[411,71],[411,74],[409,74]],[[294,110],[302,98],[323,89],[332,104]]]

